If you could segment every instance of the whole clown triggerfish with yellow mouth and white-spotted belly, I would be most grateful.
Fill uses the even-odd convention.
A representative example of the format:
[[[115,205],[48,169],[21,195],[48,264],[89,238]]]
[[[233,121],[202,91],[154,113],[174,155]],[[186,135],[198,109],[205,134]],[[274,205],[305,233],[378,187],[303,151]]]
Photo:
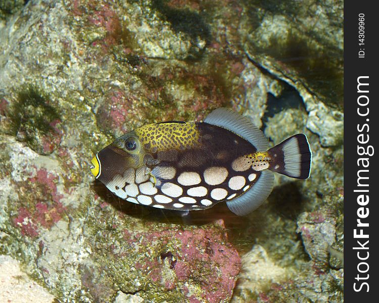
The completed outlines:
[[[248,118],[227,108],[203,122],[148,124],[118,137],[91,160],[90,171],[115,195],[158,209],[205,210],[226,201],[244,216],[264,203],[274,172],[310,176],[305,134],[272,148]]]

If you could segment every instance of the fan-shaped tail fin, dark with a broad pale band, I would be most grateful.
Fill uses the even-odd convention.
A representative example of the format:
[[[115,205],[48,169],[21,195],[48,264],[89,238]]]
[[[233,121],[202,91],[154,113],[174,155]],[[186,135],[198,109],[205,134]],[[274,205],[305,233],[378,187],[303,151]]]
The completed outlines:
[[[271,158],[269,170],[292,178],[309,178],[312,151],[306,135],[294,135],[270,148],[268,154]]]

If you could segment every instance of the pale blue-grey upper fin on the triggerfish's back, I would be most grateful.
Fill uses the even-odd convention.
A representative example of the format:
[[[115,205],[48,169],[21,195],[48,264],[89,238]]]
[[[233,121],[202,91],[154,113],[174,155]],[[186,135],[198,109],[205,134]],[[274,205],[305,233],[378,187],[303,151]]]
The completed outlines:
[[[226,128],[238,134],[253,144],[259,151],[268,149],[268,140],[263,132],[251,123],[248,118],[233,110],[226,108],[216,109],[205,118],[204,122]]]

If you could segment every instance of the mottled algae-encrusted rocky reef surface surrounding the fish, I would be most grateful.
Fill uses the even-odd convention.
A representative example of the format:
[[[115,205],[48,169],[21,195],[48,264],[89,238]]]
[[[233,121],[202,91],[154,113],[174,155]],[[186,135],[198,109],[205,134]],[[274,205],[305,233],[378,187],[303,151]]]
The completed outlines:
[[[328,0],[4,2],[0,253],[62,302],[342,301],[342,31]],[[116,136],[222,106],[271,145],[307,134],[311,177],[242,218],[94,182]]]

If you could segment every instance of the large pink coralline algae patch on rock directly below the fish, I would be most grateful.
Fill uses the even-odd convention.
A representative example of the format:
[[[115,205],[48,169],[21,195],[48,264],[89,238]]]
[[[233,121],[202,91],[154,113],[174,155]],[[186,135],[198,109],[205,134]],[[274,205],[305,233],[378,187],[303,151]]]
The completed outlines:
[[[223,226],[223,222],[220,224]],[[160,256],[136,262],[136,269],[148,274],[152,283],[159,283],[167,290],[180,287],[190,302],[212,303],[231,298],[241,270],[241,259],[227,242],[225,230],[217,227],[193,230],[168,228],[134,235],[125,231],[124,239],[131,245],[140,242],[144,250],[151,246],[152,251],[157,249],[155,246],[165,247],[169,239],[176,239],[175,249],[165,247]],[[168,271],[171,274],[167,274]],[[172,271],[175,279],[172,279]],[[201,291],[189,291],[186,282],[197,284]]]

